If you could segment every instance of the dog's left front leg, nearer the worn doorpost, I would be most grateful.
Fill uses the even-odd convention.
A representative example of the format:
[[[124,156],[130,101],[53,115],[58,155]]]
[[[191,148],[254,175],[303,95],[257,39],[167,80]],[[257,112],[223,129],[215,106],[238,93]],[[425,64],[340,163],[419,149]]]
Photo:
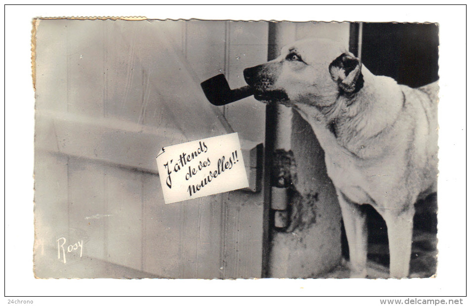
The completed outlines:
[[[360,205],[352,202],[341,191],[337,190],[342,218],[350,251],[350,278],[366,278],[366,255],[368,250],[368,231],[366,215]]]

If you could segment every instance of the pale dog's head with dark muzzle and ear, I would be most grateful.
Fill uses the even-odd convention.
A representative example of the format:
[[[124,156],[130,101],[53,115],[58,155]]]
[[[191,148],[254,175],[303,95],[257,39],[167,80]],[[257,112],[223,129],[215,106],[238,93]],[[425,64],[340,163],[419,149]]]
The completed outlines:
[[[330,106],[363,85],[359,59],[344,51],[320,40],[298,41],[276,59],[245,69],[245,82],[260,101]]]

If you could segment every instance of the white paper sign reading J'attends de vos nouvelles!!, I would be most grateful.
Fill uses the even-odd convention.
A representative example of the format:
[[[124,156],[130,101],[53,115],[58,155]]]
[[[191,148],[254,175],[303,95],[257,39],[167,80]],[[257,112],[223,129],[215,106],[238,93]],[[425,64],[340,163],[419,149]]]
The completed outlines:
[[[164,147],[157,167],[165,204],[249,186],[237,133]]]

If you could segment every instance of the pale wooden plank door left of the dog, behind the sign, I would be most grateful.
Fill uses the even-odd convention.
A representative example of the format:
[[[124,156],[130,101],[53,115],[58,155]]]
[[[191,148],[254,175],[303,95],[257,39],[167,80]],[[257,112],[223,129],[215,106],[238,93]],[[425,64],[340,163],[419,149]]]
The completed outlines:
[[[254,26],[262,35],[265,26]],[[58,58],[38,60],[47,78],[38,81],[45,90],[38,91],[36,116],[36,154],[52,153],[36,165],[37,203],[48,212],[41,215],[38,209],[36,216],[54,223],[48,235],[64,228],[70,241],[84,240],[83,260],[100,259],[148,275],[260,277],[262,193],[165,205],[152,154],[161,146],[232,132],[222,109],[206,101],[199,82],[221,68],[227,73],[239,60],[258,63],[252,56],[266,54],[266,45],[253,55],[245,52],[243,45],[257,38],[255,32],[231,26],[236,45],[230,50],[228,22],[155,21],[149,26],[147,21],[61,20],[50,27],[52,44],[38,48],[53,48],[42,52]],[[228,54],[240,52],[246,57],[231,64]],[[228,118],[253,121],[244,117],[253,112],[236,107]],[[260,122],[254,121],[254,131],[239,127],[241,139],[263,139],[257,126],[264,117],[255,117]],[[45,175],[51,179],[41,186]],[[65,269],[61,276],[117,275],[100,261],[88,265],[96,274],[84,273],[84,263],[77,263],[75,268],[58,266]]]

